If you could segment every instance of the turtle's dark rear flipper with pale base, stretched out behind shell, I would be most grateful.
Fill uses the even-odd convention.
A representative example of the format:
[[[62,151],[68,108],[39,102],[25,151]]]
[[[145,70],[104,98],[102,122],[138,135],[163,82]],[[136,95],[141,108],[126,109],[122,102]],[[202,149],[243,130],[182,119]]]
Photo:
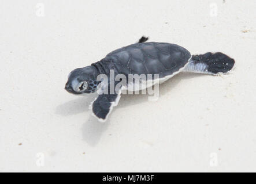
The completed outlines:
[[[184,71],[202,74],[227,74],[234,66],[235,60],[221,52],[207,52],[193,55]]]

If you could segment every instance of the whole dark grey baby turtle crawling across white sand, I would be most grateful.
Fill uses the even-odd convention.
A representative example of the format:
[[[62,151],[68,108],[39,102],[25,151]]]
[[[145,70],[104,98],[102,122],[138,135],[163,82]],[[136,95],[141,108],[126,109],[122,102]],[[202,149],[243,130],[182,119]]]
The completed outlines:
[[[114,71],[114,76],[123,74],[127,78],[131,74],[158,74],[159,81],[163,82],[181,71],[227,74],[235,64],[235,60],[221,52],[191,55],[187,49],[176,44],[144,43],[146,41],[147,38],[142,37],[138,43],[116,49],[91,66],[73,70],[68,76],[66,91],[72,94],[88,94],[94,93],[97,89],[105,90],[107,87],[109,92],[111,80],[102,85],[102,81],[97,81],[97,76],[110,76],[111,70]],[[117,82],[113,82],[113,86],[116,87]],[[92,102],[92,112],[99,121],[107,119],[113,106],[118,104],[121,90],[127,89],[128,86],[129,84],[118,86],[114,93],[101,93]]]

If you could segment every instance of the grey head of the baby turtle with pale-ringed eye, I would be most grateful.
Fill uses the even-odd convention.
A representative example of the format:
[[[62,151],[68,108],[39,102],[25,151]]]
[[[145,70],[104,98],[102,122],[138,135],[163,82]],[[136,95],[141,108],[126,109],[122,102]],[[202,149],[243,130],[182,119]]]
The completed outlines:
[[[94,93],[99,82],[98,70],[94,66],[77,68],[68,75],[65,90],[72,94]]]

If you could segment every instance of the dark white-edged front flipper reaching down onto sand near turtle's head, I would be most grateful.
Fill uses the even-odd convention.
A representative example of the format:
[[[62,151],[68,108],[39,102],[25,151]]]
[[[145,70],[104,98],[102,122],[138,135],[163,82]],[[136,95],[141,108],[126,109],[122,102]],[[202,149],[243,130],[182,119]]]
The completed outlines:
[[[121,93],[99,95],[92,104],[92,115],[97,117],[99,121],[106,121],[113,107],[118,104],[120,97]]]

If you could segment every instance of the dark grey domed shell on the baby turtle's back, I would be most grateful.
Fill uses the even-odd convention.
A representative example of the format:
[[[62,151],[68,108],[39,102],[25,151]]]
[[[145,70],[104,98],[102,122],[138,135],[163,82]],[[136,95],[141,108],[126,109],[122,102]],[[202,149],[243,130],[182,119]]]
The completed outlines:
[[[170,43],[136,43],[110,52],[104,60],[111,60],[117,73],[159,74],[162,78],[179,71],[188,63],[187,49]]]

